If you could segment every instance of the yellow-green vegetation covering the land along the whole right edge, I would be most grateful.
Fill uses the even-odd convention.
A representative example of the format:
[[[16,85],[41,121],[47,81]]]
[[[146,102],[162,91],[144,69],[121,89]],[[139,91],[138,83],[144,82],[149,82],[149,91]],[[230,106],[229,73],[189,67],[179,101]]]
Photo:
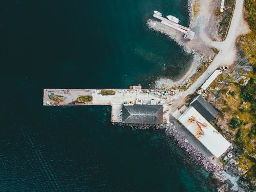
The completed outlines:
[[[215,119],[215,124],[221,129],[221,133],[238,147],[236,161],[241,169],[243,179],[251,188],[256,188],[256,4],[253,0],[245,0],[245,19],[251,32],[238,38],[237,46],[241,47],[245,57],[253,70],[244,72],[243,67],[235,70],[239,76],[244,76],[239,81],[229,77],[228,85],[221,87],[219,91],[211,90],[208,100],[220,111]],[[246,62],[246,61],[245,61]],[[240,63],[244,65],[244,62]],[[234,66],[230,69],[233,70]],[[233,73],[234,74],[234,73]],[[224,75],[219,75],[218,81],[222,81]],[[248,83],[244,83],[248,79]],[[218,87],[218,82],[211,84],[212,88]],[[214,97],[218,97],[217,100]]]

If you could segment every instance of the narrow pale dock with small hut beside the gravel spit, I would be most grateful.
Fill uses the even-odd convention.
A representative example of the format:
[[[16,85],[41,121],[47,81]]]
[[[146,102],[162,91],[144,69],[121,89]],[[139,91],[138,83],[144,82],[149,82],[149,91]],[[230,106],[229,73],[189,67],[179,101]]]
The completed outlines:
[[[158,11],[156,11],[156,12],[160,13]],[[159,14],[156,14],[156,13],[153,14],[153,17],[160,19],[162,24],[184,33],[185,34],[184,39],[186,39],[186,40],[192,40],[195,37],[195,32],[191,31],[187,27],[184,27],[184,26],[179,25],[175,22],[172,22],[171,20],[169,20],[167,18],[164,18],[164,17],[162,17],[162,16],[160,16]]]

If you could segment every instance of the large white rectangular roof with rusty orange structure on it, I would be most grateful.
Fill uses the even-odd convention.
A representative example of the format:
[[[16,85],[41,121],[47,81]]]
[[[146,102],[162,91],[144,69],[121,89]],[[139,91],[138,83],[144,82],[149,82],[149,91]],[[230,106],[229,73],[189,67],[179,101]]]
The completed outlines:
[[[195,109],[190,106],[178,119],[215,157],[220,157],[230,143]],[[204,126],[201,126],[204,125]]]

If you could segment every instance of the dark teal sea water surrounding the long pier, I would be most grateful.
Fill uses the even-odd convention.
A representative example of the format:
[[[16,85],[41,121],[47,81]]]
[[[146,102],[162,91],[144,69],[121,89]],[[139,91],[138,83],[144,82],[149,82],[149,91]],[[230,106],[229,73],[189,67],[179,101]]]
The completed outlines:
[[[163,131],[114,126],[107,106],[42,106],[43,88],[183,74],[191,56],[146,20],[159,10],[188,25],[185,0],[0,5],[0,191],[214,191]]]

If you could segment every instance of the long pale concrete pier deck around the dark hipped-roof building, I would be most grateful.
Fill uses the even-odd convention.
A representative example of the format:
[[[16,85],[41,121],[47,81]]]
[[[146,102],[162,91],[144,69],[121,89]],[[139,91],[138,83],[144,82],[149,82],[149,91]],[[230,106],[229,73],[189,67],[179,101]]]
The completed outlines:
[[[101,90],[112,90],[115,94],[102,95]],[[91,96],[92,100],[78,102],[77,98],[80,96]],[[43,104],[53,106],[111,105],[112,122],[122,122],[120,113],[124,103],[161,104],[163,105],[163,119],[166,122],[169,120],[169,106],[176,97],[173,91],[142,90],[140,86],[131,86],[130,89],[44,89]]]

